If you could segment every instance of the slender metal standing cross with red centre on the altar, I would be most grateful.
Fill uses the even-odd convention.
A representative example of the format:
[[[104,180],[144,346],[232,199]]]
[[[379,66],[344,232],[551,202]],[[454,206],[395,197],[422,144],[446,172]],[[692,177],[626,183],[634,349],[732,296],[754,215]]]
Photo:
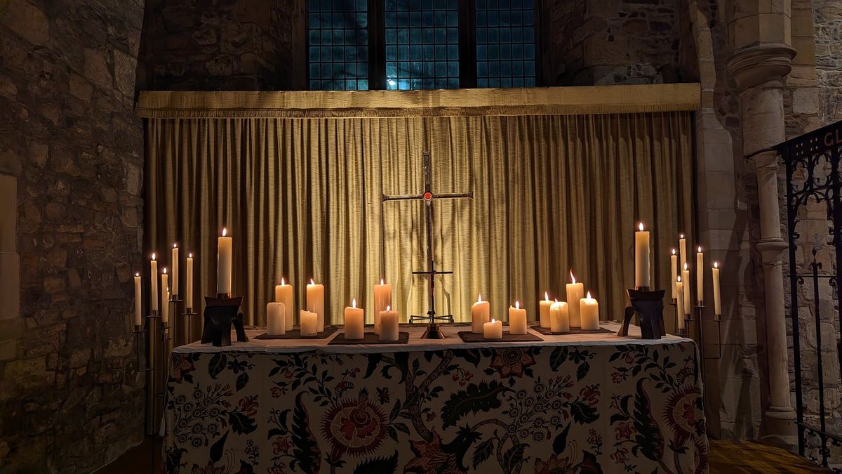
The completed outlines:
[[[423,199],[427,211],[427,270],[413,272],[413,275],[427,275],[429,277],[429,310],[427,310],[427,317],[429,317],[429,325],[424,337],[428,339],[443,339],[444,335],[440,331],[437,321],[448,320],[453,322],[453,315],[435,315],[435,276],[445,275],[453,272],[445,272],[435,269],[435,261],[433,260],[433,200],[434,199],[459,199],[467,198],[473,199],[473,191],[471,192],[451,192],[445,194],[433,194],[432,178],[429,165],[429,152],[424,152],[424,193],[423,194],[405,194],[401,196],[386,196],[383,195],[383,202],[386,201],[409,201],[414,199]],[[409,322],[416,319],[423,319],[422,315],[409,316]]]

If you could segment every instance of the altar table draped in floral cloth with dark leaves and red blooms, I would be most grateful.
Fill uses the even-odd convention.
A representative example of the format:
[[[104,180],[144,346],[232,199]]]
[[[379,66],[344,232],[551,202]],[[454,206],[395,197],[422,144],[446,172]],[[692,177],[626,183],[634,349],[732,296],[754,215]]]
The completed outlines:
[[[420,338],[421,326],[401,331],[408,344],[175,348],[168,471],[707,471],[690,339],[539,334],[543,342],[481,344],[461,342],[465,326],[445,326],[447,338],[434,341]]]

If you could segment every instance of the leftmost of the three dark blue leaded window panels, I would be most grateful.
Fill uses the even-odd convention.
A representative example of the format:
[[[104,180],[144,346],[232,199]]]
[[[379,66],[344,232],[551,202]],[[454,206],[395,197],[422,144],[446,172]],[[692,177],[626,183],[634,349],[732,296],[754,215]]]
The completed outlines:
[[[309,0],[310,89],[368,89],[368,1]]]

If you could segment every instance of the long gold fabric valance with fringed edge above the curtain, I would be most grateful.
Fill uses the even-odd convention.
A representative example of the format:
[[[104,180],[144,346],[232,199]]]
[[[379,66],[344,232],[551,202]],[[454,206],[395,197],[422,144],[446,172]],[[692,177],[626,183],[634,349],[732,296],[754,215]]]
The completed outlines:
[[[698,83],[525,89],[141,92],[147,118],[353,118],[629,114],[697,110]]]

